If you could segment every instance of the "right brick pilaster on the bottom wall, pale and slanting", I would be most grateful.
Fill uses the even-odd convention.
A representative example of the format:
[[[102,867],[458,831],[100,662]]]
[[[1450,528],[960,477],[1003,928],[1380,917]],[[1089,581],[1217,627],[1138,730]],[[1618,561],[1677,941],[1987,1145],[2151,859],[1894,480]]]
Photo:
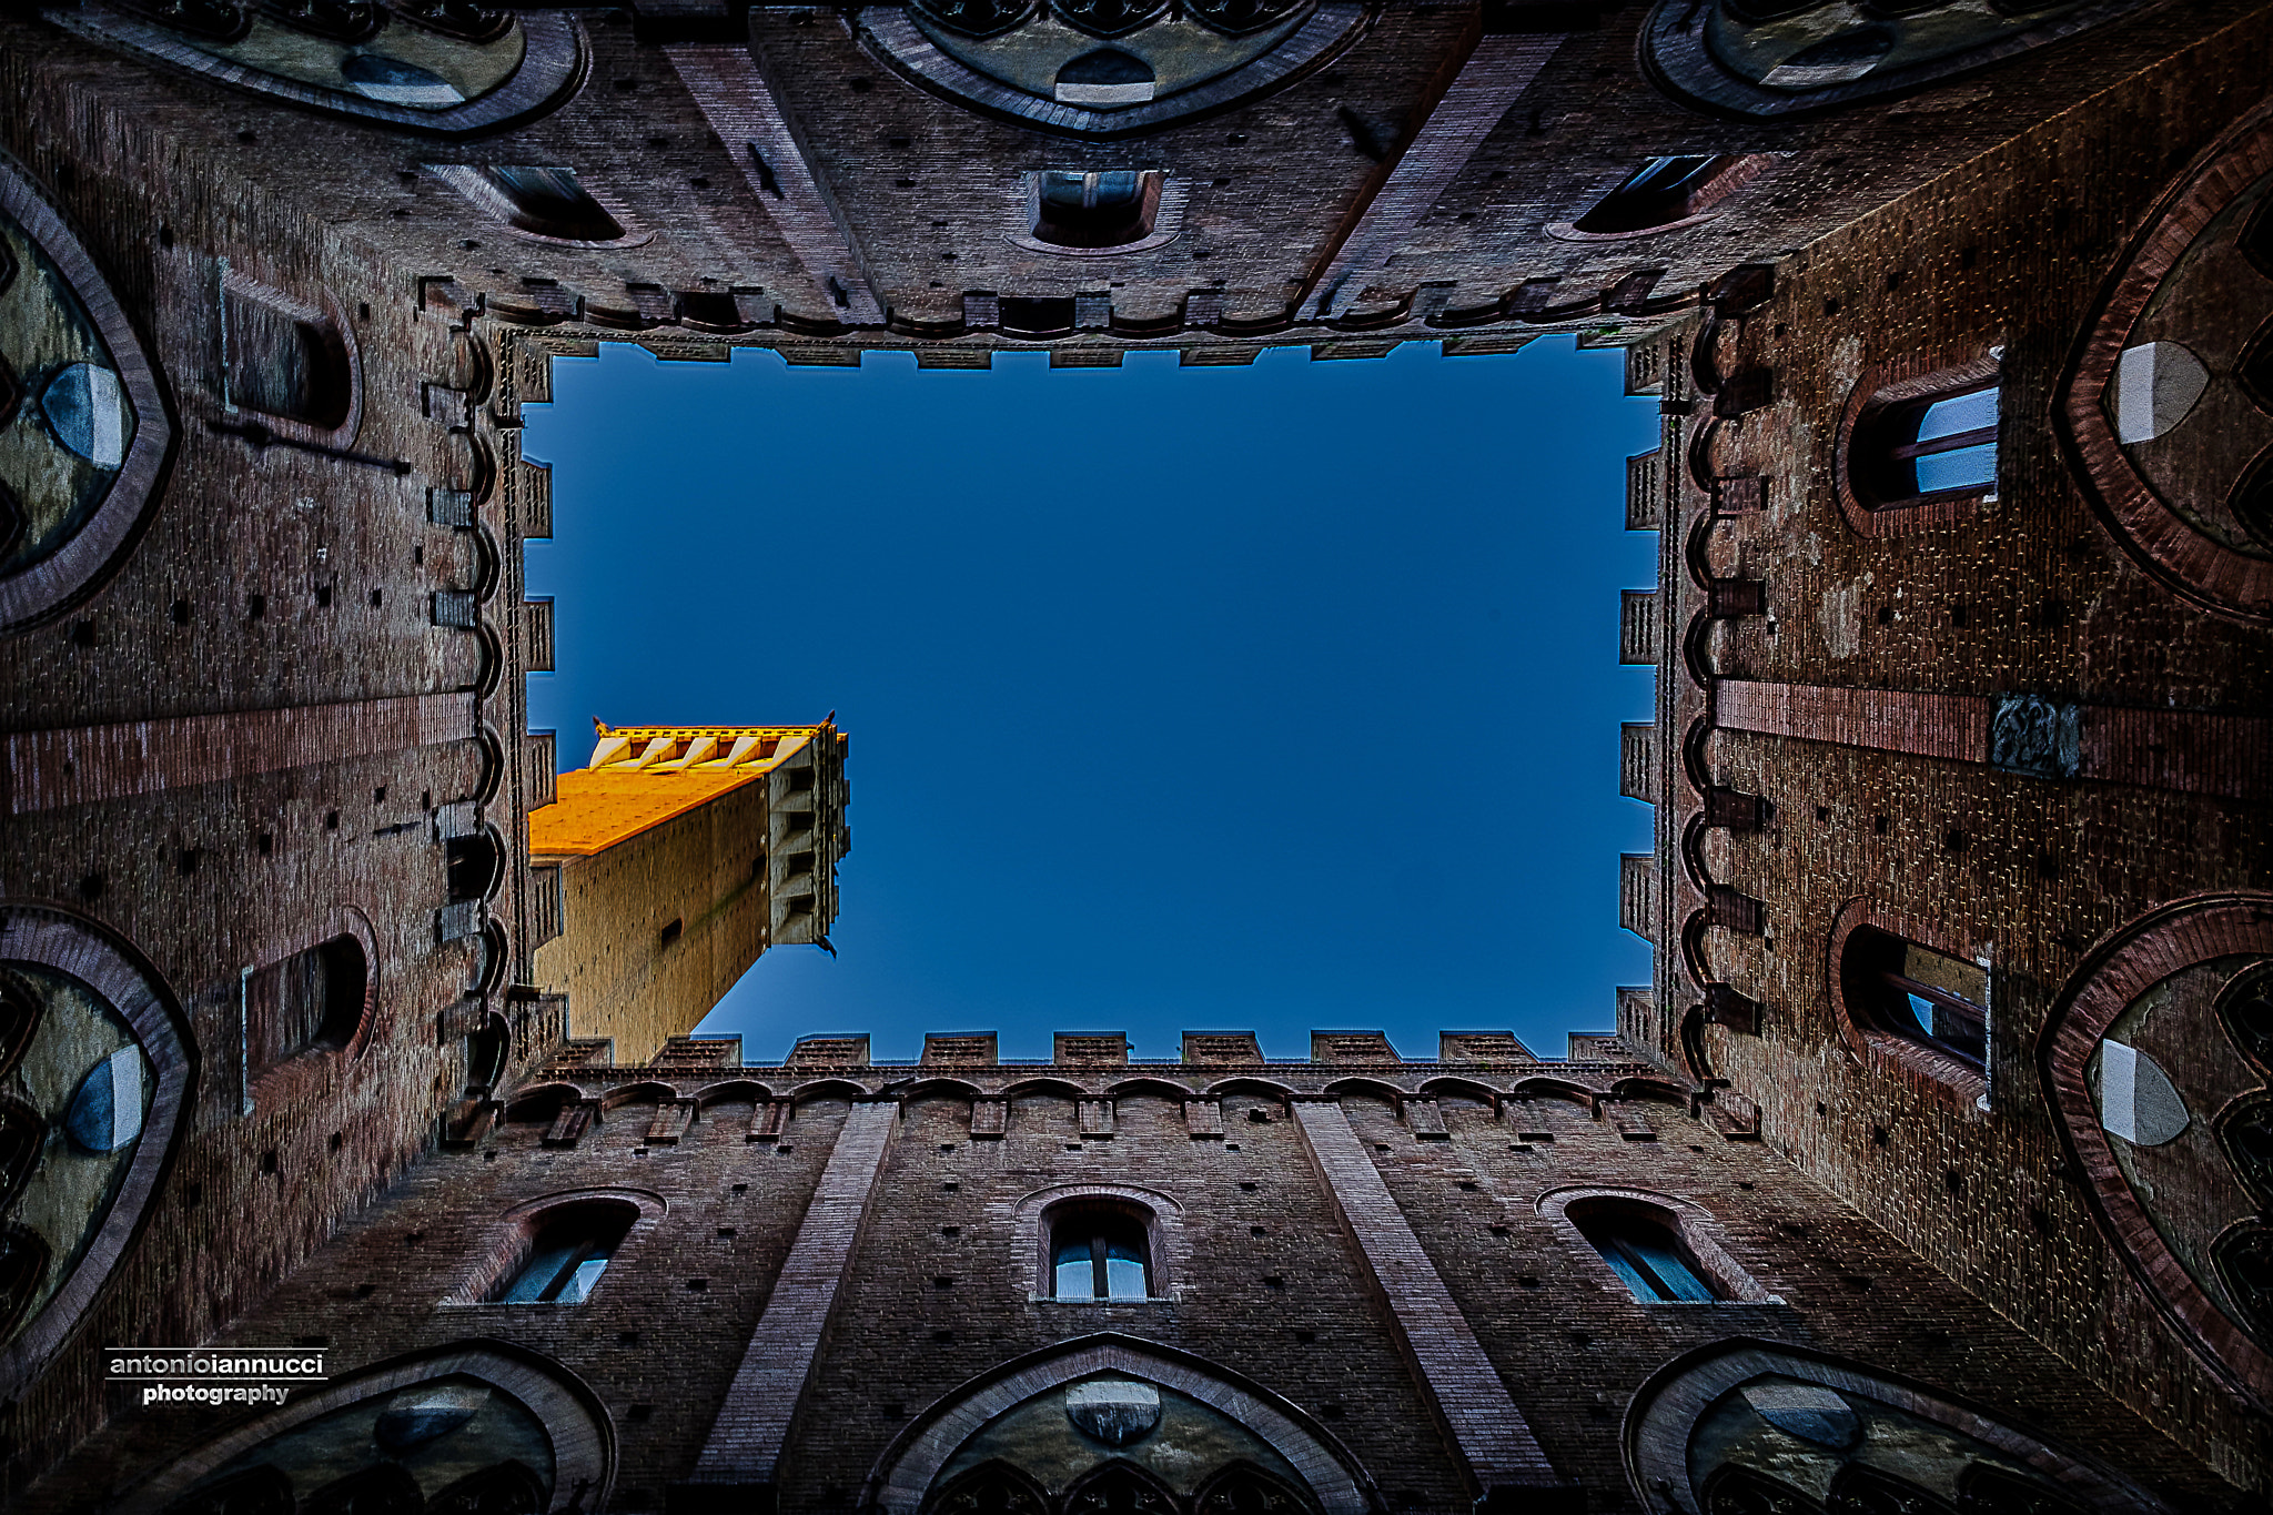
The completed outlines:
[[[1357,1242],[1375,1292],[1389,1306],[1405,1361],[1434,1406],[1446,1440],[1468,1463],[1477,1492],[1498,1501],[1514,1490],[1539,1490],[1525,1508],[1562,1508],[1564,1481],[1548,1465],[1523,1411],[1507,1397],[1507,1386],[1475,1340],[1468,1317],[1452,1304],[1437,1265],[1421,1252],[1421,1238],[1389,1197],[1389,1186],[1357,1142],[1341,1104],[1305,1099],[1293,1113],[1312,1167]]]

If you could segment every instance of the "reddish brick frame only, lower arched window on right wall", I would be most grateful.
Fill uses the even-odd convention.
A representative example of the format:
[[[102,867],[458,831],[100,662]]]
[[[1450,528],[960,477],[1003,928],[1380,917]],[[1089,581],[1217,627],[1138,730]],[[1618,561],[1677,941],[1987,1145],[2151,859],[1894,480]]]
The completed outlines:
[[[2203,1292],[2171,1254],[2155,1217],[2116,1165],[2091,1093],[2091,1054],[2107,1029],[2155,984],[2221,956],[2273,956],[2273,893],[2187,895],[2132,918],[2091,947],[2037,1038],[2053,1127],[2082,1170],[2082,1190],[2109,1247],[2141,1292],[2221,1379],[2273,1397],[2273,1351],[2259,1347]]]

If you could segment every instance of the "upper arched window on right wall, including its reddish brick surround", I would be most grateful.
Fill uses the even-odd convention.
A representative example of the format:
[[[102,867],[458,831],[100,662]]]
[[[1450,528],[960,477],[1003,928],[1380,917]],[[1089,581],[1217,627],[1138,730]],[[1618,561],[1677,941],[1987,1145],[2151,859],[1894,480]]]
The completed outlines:
[[[2273,625],[2273,111],[2164,195],[2055,416],[2141,568],[2207,611]]]

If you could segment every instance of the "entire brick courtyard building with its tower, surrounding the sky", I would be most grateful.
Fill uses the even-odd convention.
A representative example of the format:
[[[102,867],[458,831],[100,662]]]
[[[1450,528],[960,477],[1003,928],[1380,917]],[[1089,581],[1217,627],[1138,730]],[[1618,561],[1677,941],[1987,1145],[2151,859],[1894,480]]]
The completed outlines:
[[[9,11],[0,1499],[2259,1508],[2268,43],[2246,0]],[[841,747],[557,777],[555,354],[1541,332],[1664,411],[1614,1036],[686,1038],[825,943]],[[568,825],[707,763],[752,772]],[[198,1342],[327,1381],[159,1415],[98,1351]]]

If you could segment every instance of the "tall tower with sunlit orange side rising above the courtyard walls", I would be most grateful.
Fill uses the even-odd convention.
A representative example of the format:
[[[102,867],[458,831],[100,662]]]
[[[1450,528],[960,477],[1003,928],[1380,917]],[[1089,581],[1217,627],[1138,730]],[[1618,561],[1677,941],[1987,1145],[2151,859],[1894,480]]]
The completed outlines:
[[[816,727],[600,727],[530,815],[536,988],[568,1033],[646,1061],[766,947],[827,947],[846,738]]]

